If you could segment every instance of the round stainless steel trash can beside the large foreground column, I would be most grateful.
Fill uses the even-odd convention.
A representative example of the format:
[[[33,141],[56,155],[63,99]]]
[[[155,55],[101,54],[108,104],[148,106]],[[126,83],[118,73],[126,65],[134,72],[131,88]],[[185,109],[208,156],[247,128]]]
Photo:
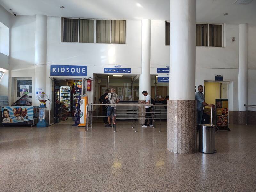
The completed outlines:
[[[214,153],[215,125],[199,124],[199,152]]]

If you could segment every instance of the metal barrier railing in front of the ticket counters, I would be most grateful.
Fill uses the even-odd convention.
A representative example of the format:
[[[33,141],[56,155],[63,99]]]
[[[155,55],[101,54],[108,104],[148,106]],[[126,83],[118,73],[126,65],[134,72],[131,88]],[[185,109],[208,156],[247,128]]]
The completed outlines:
[[[114,119],[114,123],[112,124],[112,128],[114,126],[114,132],[116,132],[116,120],[125,120],[125,121],[118,121],[118,126],[119,125],[132,125],[132,128],[135,127],[135,132],[137,132],[137,125],[141,125],[138,124],[137,122],[141,119],[145,119],[145,116],[141,116],[139,115],[140,112],[145,112],[145,110],[139,110],[139,107],[146,107],[146,106],[150,106],[153,108],[151,108],[150,113],[151,113],[151,118],[149,118],[149,122],[150,119],[152,119],[152,123],[153,123],[153,129],[155,129],[156,125],[159,125],[159,132],[161,132],[161,126],[163,125],[167,125],[167,124],[161,124],[161,120],[163,121],[164,119],[167,119],[167,105],[162,104],[162,105],[145,105],[145,104],[116,104],[116,105],[110,105],[110,104],[88,104],[86,106],[86,124],[85,124],[85,132],[87,132],[89,125],[91,124],[91,129],[92,129],[92,123],[103,123],[103,121],[93,121],[93,118],[95,117],[105,117],[105,116],[94,116],[93,113],[97,113],[97,112],[103,112],[106,110],[93,110],[93,106],[112,106],[113,110],[112,110],[112,119]],[[120,109],[121,107],[131,107],[131,109],[128,110],[122,110]],[[166,110],[161,111],[161,107],[166,108]],[[119,109],[118,109],[119,108]],[[159,109],[158,109],[159,108]],[[153,111],[153,113],[152,113]],[[152,117],[153,114],[153,117]],[[161,115],[166,116],[166,118],[161,118]],[[90,117],[90,118],[89,118]],[[130,121],[129,121],[130,120]],[[156,124],[156,120],[159,120],[159,124]],[[130,124],[119,124],[119,123],[127,123],[129,122]]]

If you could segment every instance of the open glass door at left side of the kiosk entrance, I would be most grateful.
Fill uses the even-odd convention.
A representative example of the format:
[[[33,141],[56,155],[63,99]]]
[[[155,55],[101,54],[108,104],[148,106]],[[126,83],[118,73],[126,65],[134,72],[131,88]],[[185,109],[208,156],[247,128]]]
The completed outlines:
[[[54,79],[49,78],[49,125],[54,124]]]

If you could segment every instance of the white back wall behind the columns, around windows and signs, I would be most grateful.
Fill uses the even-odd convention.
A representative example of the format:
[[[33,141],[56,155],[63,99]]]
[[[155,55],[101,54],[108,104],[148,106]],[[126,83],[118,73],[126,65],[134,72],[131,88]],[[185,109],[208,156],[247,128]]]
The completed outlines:
[[[168,65],[169,63],[170,47],[164,45],[164,23],[164,21],[153,20],[151,23],[151,74],[157,74],[158,65]],[[10,78],[32,77],[34,83],[35,16],[12,17],[11,25]],[[256,36],[254,34],[256,34],[256,26],[249,25],[248,100],[250,104],[256,103],[256,85],[254,83],[256,80],[254,70],[256,69]],[[223,80],[230,82],[230,110],[237,111],[238,25],[225,24],[224,36],[225,47],[223,48],[196,47],[196,86],[204,85],[206,80],[214,80],[215,74],[223,74]],[[232,42],[231,37],[235,37],[236,40]],[[4,57],[0,54],[0,62],[1,58]],[[131,65],[132,74],[141,74],[141,21],[127,21],[127,44],[68,43],[61,42],[61,18],[48,17],[47,93],[49,77],[68,78],[67,76],[50,76],[51,64],[87,65],[87,77],[93,77],[94,73],[102,74],[103,66],[107,64]],[[10,78],[9,82],[11,82]],[[87,94],[91,98],[90,103],[92,102],[93,91],[87,92]]]

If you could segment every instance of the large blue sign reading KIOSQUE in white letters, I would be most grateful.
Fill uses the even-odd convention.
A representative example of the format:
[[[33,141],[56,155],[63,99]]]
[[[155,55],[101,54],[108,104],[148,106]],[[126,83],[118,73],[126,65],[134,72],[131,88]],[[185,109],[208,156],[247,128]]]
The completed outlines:
[[[87,76],[87,66],[51,65],[52,76]]]

